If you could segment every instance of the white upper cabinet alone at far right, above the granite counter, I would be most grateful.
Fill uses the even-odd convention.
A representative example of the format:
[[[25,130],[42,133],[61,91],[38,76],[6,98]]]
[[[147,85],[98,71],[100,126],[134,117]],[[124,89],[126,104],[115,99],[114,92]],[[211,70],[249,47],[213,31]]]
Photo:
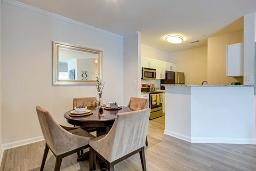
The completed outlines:
[[[241,77],[244,75],[243,43],[227,45],[227,76]]]

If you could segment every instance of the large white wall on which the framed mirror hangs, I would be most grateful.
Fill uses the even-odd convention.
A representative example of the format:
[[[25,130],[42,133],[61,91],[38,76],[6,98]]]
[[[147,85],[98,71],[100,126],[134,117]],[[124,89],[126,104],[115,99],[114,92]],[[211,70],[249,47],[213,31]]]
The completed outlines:
[[[26,6],[25,6],[26,8]],[[74,97],[95,86],[52,85],[52,40],[103,51],[103,98],[123,104],[123,38],[46,12],[2,4],[3,143],[42,136],[36,105],[60,124]],[[54,15],[55,16],[55,15]]]

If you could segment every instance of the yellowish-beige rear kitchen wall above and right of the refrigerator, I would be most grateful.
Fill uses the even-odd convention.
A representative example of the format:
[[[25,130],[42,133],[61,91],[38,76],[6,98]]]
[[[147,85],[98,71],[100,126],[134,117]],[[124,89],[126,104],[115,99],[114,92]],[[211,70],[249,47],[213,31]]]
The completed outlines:
[[[201,84],[207,78],[207,46],[170,54],[176,70],[185,72],[185,84]]]

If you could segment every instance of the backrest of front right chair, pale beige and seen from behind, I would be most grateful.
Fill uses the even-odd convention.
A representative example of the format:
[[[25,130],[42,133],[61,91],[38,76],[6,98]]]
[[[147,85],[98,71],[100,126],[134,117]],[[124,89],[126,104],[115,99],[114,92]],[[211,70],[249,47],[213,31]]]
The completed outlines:
[[[115,123],[109,133],[101,140],[108,144],[105,156],[115,161],[145,145],[150,109],[117,114]]]

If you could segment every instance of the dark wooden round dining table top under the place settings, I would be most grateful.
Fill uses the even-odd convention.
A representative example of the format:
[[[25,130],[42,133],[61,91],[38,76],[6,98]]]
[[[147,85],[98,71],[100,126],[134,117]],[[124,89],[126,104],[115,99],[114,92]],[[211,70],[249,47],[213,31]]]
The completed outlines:
[[[72,125],[83,127],[105,127],[114,124],[116,115],[118,113],[134,111],[133,109],[128,107],[122,107],[122,109],[118,110],[103,109],[103,112],[99,112],[99,110],[95,109],[95,107],[87,107],[87,109],[91,110],[93,114],[89,116],[73,117],[69,116],[69,113],[73,110],[69,110],[64,114],[64,117],[67,119],[67,122]]]

